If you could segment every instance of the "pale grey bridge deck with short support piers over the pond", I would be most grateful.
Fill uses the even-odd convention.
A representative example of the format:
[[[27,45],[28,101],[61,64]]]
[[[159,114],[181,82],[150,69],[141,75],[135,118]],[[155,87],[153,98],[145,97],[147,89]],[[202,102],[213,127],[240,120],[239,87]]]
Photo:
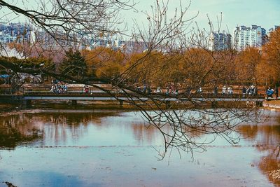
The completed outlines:
[[[106,92],[92,92],[92,93],[77,93],[67,92],[61,94],[54,93],[42,93],[42,92],[30,92],[22,95],[22,99],[31,104],[32,100],[71,100],[72,104],[77,104],[77,101],[118,101],[120,105],[123,102],[141,101],[148,102],[149,100],[155,100],[159,102],[165,102],[167,105],[170,102],[188,102],[190,100],[196,102],[211,102],[212,105],[216,105],[217,102],[255,102],[258,106],[262,106],[262,102],[265,100],[265,96],[257,95],[251,97],[245,97],[243,95],[213,95],[213,94],[193,94],[190,97],[186,95],[165,95],[165,94],[150,94],[150,95],[138,95],[130,93],[129,96],[121,92],[112,92],[111,95]]]

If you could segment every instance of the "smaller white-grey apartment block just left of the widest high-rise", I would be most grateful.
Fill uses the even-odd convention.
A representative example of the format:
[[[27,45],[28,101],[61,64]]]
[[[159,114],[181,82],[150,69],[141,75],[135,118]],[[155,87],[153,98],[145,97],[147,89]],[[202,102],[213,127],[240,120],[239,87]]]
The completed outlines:
[[[227,50],[231,48],[232,35],[227,32],[211,32],[209,50]]]

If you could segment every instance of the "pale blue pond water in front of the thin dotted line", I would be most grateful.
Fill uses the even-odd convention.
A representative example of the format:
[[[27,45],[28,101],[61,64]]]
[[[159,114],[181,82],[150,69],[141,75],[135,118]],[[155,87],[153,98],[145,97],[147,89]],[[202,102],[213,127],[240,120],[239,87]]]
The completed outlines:
[[[16,186],[273,186],[257,167],[253,148],[172,153],[157,161],[148,146],[17,148],[1,151],[0,180]],[[67,181],[66,179],[69,179]],[[58,186],[59,186],[58,185]]]

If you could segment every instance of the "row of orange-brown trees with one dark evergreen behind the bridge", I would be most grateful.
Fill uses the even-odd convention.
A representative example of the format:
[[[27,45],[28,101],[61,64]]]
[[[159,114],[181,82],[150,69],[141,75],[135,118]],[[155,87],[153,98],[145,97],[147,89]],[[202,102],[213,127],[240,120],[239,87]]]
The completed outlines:
[[[239,52],[184,48],[173,50],[172,53],[160,50],[125,53],[122,50],[97,47],[93,50],[69,48],[60,53],[52,51],[53,54],[50,56],[34,55],[32,49],[27,46],[10,43],[8,45],[10,48],[15,48],[18,53],[31,57],[23,60],[1,58],[11,62],[18,61],[17,63],[25,67],[41,64],[46,69],[56,71],[57,74],[76,78],[116,81],[116,78],[125,76],[126,81],[131,85],[165,87],[178,83],[184,87],[191,85],[193,88],[214,84],[268,86],[278,84],[280,80],[279,41],[280,29],[276,29],[261,49],[248,47]],[[55,62],[56,59],[60,59],[59,62]],[[139,60],[141,63],[135,66]],[[131,71],[128,72],[127,69]]]

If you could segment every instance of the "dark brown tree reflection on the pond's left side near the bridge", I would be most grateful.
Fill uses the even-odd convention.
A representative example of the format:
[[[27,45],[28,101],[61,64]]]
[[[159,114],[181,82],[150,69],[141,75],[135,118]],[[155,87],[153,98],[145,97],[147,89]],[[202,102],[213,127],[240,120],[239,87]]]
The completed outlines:
[[[100,124],[104,116],[116,116],[116,112],[53,112],[21,113],[1,116],[0,146],[15,147],[38,138],[52,139],[55,143],[82,137],[87,132],[87,124]]]

